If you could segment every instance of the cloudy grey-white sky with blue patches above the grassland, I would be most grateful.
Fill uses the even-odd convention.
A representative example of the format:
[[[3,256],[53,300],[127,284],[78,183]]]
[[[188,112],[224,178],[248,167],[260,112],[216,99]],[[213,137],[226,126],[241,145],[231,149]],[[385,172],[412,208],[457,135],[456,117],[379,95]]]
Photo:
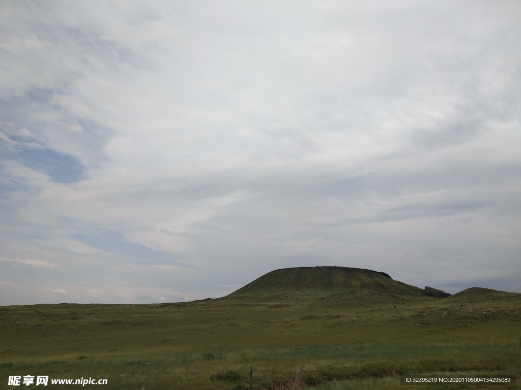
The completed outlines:
[[[521,292],[521,3],[0,2],[0,305],[337,265]]]

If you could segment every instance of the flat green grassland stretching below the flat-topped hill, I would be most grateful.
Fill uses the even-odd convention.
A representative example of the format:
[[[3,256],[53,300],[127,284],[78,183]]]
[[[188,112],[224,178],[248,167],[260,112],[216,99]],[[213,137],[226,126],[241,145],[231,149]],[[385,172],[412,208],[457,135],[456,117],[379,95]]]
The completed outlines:
[[[401,375],[520,376],[521,294],[494,292],[487,301],[482,293],[391,295],[390,303],[358,307],[310,290],[0,307],[0,388],[21,388],[7,386],[9,375],[49,375],[107,379],[111,389],[237,390],[247,388],[250,366],[258,389],[287,384],[299,365],[317,390],[428,387],[403,387]]]

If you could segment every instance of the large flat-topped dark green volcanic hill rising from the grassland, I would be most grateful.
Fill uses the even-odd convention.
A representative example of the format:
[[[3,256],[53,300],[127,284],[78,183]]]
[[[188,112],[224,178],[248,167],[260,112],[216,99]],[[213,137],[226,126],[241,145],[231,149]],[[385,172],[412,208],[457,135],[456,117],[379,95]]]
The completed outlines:
[[[393,280],[385,272],[350,267],[282,268],[246,284],[228,297],[303,295],[320,298],[320,304],[351,306],[396,302],[397,299],[432,300],[450,294],[419,289]]]

